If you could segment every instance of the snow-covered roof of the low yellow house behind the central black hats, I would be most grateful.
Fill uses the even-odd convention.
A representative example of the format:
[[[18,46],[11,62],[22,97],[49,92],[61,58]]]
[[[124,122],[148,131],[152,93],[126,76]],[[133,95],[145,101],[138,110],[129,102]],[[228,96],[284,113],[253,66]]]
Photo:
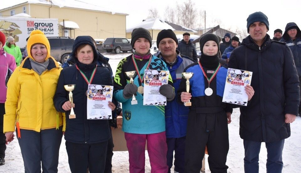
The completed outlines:
[[[146,30],[164,30],[171,29],[174,31],[197,32],[195,30],[184,28],[182,26],[169,23],[159,18],[146,19],[139,24],[131,26],[126,32],[132,32],[135,28],[144,28]]]

